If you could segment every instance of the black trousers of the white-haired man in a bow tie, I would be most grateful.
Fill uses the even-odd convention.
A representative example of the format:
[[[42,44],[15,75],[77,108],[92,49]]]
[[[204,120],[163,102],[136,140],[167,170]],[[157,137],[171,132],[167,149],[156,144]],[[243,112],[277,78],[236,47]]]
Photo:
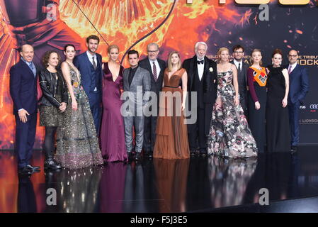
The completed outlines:
[[[197,121],[193,125],[193,130],[188,132],[190,150],[200,150],[206,152],[207,137],[205,135],[205,114],[203,108],[198,108]]]

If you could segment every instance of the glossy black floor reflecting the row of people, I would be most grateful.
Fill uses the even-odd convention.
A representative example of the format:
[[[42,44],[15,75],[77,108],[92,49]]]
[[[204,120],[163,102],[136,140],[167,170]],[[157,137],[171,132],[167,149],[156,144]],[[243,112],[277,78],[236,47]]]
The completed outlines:
[[[43,159],[35,151],[32,163],[42,167]],[[253,207],[261,188],[268,189],[270,204],[318,196],[318,147],[300,147],[295,155],[260,154],[255,160],[198,156],[84,170],[41,169],[31,177],[18,177],[13,152],[0,151],[0,212],[222,211]],[[57,204],[49,206],[52,189]]]

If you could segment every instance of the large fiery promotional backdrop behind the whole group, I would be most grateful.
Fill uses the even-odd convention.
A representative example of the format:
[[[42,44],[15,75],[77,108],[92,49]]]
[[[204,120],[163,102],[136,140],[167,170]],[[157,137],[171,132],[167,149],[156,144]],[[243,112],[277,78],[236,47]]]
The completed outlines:
[[[101,38],[97,52],[108,61],[107,47],[120,47],[127,67],[127,51],[147,55],[147,44],[157,43],[166,60],[177,50],[182,60],[194,55],[198,41],[208,44],[216,59],[221,47],[245,48],[245,60],[254,48],[262,50],[263,65],[271,64],[276,48],[299,51],[299,64],[309,72],[310,92],[300,106],[300,144],[318,143],[318,7],[316,0],[0,0],[0,149],[13,149],[15,121],[9,94],[9,70],[19,60],[17,48],[33,45],[40,67],[47,50],[63,55],[72,43],[86,51],[86,37]],[[38,126],[35,148],[42,147],[44,127]]]

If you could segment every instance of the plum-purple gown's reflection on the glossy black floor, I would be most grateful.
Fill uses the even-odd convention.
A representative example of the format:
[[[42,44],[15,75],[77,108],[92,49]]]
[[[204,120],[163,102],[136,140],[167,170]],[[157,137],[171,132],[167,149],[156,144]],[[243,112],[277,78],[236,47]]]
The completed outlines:
[[[123,212],[126,171],[127,165],[125,162],[108,162],[108,165],[103,168],[100,187],[100,212]]]

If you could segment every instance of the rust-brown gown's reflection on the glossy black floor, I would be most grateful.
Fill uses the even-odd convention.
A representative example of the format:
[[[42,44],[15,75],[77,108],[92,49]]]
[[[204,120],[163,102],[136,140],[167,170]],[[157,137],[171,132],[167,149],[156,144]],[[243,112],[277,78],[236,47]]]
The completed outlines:
[[[154,159],[160,212],[185,212],[189,159]]]

